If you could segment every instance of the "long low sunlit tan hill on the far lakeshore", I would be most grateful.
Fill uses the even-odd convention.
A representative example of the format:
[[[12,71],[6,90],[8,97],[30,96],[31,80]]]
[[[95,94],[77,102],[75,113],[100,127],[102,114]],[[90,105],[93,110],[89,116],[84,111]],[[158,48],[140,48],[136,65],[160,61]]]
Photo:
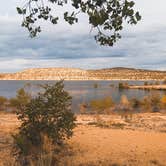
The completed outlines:
[[[34,68],[0,74],[0,80],[166,80],[166,71],[134,68],[82,70],[77,68]]]

